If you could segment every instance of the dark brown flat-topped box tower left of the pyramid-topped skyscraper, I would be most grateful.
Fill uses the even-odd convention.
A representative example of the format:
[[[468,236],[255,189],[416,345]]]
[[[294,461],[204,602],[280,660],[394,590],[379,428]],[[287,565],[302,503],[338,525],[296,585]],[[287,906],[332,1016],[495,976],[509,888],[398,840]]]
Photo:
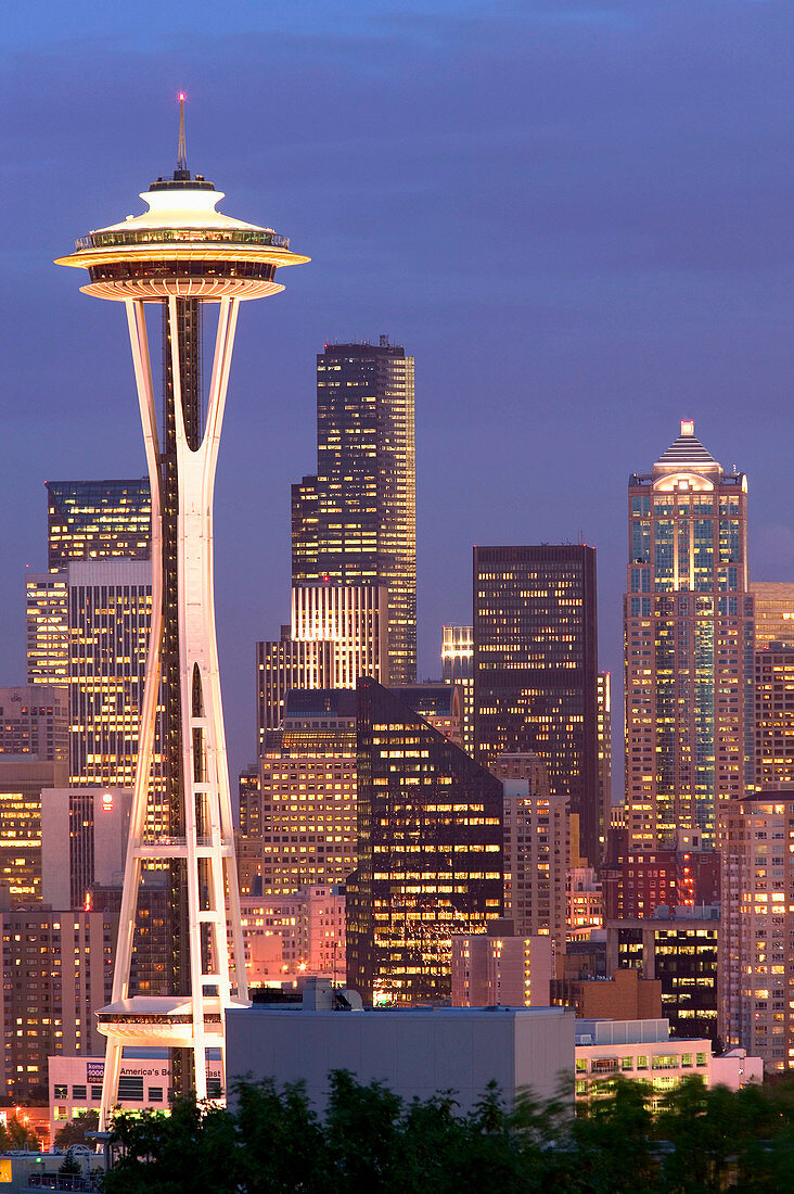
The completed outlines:
[[[476,758],[540,755],[591,863],[602,836],[597,683],[595,549],[475,547]]]

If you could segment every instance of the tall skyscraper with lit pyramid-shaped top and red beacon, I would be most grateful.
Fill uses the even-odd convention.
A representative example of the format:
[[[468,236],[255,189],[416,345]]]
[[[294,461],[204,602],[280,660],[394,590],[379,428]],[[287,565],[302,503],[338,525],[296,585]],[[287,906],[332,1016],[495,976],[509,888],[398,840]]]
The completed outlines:
[[[626,800],[632,847],[682,827],[715,842],[720,802],[753,783],[747,481],[684,420],[628,485]]]

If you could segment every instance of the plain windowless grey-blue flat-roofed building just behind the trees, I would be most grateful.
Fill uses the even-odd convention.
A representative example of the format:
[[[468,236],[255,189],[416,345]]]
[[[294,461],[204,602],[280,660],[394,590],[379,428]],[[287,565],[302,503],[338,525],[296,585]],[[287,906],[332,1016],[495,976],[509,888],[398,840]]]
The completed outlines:
[[[333,998],[307,1001],[306,990],[303,1005],[227,1011],[227,1089],[246,1075],[273,1078],[278,1085],[302,1081],[322,1110],[328,1073],[350,1070],[359,1082],[382,1082],[407,1101],[453,1090],[467,1113],[490,1082],[509,1103],[522,1087],[549,1098],[573,1069],[568,1008],[338,1010]],[[322,993],[320,986],[315,990]]]

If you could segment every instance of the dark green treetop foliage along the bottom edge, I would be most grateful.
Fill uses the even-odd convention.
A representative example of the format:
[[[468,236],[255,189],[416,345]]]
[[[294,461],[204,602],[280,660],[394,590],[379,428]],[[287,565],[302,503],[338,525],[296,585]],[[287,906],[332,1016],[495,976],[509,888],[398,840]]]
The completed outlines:
[[[617,1079],[572,1114],[570,1093],[496,1085],[461,1113],[451,1091],[406,1102],[347,1071],[321,1118],[302,1083],[242,1082],[232,1109],[186,1098],[172,1114],[119,1114],[105,1194],[743,1194],[794,1189],[794,1079],[732,1094],[688,1078],[654,1118]]]

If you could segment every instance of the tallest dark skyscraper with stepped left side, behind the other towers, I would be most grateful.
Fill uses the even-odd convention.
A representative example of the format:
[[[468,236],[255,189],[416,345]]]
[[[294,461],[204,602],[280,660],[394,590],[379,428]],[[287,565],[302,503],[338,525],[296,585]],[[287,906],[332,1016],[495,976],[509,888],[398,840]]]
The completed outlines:
[[[293,486],[293,584],[384,585],[389,682],[417,677],[413,357],[326,344],[318,356],[318,472]]]

